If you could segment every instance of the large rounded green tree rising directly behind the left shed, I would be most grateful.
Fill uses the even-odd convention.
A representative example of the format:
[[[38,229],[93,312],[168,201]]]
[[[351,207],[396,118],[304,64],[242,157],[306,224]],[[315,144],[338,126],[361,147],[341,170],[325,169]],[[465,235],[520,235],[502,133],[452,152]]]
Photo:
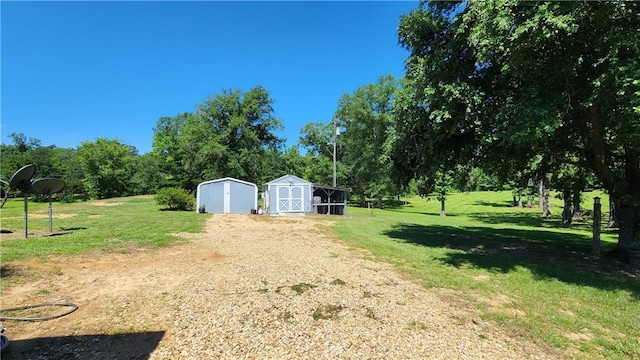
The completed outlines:
[[[282,122],[274,116],[272,104],[261,86],[246,93],[223,90],[200,104],[180,135],[186,187],[193,190],[204,179],[224,176],[260,183],[263,158],[283,142],[274,134]]]

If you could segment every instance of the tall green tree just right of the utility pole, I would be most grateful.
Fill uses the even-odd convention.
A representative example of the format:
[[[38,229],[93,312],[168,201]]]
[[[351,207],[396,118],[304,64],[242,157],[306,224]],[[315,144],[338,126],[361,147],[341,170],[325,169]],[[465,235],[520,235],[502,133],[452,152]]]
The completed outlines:
[[[393,76],[381,76],[377,83],[343,95],[336,110],[336,118],[345,129],[340,143],[347,182],[362,201],[375,198],[379,207],[384,197],[400,192],[393,181],[390,157],[394,139],[392,106],[398,86]]]

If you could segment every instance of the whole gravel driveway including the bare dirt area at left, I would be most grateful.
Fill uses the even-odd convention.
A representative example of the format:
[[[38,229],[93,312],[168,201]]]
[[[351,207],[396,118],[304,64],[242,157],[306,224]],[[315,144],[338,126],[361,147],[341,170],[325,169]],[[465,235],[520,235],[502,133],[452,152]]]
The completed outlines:
[[[554,358],[465,310],[460,294],[336,241],[329,226],[322,216],[213,215],[206,232],[181,235],[188,244],[8,269],[27,280],[3,292],[3,308],[79,309],[3,323],[3,359]]]

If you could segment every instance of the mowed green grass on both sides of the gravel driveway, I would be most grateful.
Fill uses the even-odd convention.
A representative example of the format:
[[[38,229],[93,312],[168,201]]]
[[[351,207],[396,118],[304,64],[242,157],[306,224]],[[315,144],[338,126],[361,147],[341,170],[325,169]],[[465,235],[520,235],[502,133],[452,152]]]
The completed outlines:
[[[588,193],[584,208],[592,207],[595,195],[602,196]],[[384,210],[350,207],[347,216],[333,218],[333,230],[427,288],[455,290],[465,299],[455,304],[471,307],[485,321],[567,358],[640,358],[637,272],[591,257],[591,220],[562,226],[561,204],[553,200],[555,216],[542,219],[538,209],[512,207],[510,192],[453,194],[446,217],[439,216],[435,200],[402,199]],[[31,231],[48,234],[47,206],[29,202]],[[24,239],[15,236],[23,231],[22,200],[11,199],[0,210],[3,268],[51,254],[127,252],[185,241],[170,234],[199,232],[209,218],[161,211],[150,196],[54,203],[53,213],[57,236]],[[604,251],[613,248],[615,236],[604,230]]]

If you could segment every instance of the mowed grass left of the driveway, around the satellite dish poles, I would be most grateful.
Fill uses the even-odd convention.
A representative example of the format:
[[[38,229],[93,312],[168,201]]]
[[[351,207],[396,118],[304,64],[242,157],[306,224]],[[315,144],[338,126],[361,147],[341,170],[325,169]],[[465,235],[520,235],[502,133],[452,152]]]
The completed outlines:
[[[28,203],[28,232],[24,238],[24,202],[9,199],[0,210],[0,260],[56,254],[80,254],[96,249],[128,252],[184,241],[171,235],[200,232],[208,216],[195,211],[162,211],[152,196],[114,198],[73,204],[53,203],[53,232],[49,233],[48,203]],[[9,238],[7,231],[13,232]],[[19,235],[16,238],[16,235]],[[43,236],[49,235],[49,236]]]

